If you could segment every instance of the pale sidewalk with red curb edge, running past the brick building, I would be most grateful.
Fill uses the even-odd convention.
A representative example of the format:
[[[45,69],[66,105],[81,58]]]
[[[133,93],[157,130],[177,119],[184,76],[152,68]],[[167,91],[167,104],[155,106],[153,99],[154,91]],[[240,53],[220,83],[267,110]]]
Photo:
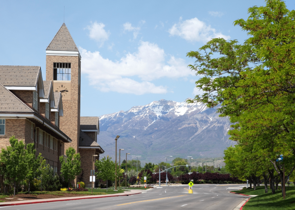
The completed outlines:
[[[124,192],[124,193],[117,193],[117,194],[110,194],[110,195],[90,195],[90,196],[77,196],[77,197],[66,197],[66,198],[51,198],[51,199],[36,199],[36,200],[2,202],[2,203],[0,203],[0,208],[2,206],[10,206],[10,205],[24,205],[24,204],[49,203],[49,202],[68,201],[68,200],[129,196],[129,195],[136,195],[136,194],[140,194],[140,193],[142,193],[142,191],[132,190],[132,192]]]

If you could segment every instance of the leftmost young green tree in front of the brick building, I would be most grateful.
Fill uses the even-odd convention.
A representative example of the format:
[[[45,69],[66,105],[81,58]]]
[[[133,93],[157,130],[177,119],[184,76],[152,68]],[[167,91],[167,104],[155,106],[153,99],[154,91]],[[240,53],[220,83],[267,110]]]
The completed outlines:
[[[12,180],[13,195],[15,196],[17,183],[26,177],[25,144],[23,141],[18,141],[15,136],[9,138],[9,143],[10,146],[7,146],[6,149],[2,148],[0,157],[6,166],[5,184],[10,184],[9,178]]]

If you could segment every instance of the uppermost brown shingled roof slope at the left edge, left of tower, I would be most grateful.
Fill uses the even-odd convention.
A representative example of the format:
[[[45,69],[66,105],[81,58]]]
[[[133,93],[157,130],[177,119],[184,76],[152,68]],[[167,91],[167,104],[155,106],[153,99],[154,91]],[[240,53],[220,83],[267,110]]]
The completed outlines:
[[[40,66],[0,65],[0,83],[4,86],[37,85]]]

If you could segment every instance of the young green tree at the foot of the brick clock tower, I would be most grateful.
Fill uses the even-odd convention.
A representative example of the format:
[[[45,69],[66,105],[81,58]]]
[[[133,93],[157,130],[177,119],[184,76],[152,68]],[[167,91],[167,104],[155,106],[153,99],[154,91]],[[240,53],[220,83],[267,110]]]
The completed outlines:
[[[60,156],[59,161],[61,162],[61,175],[68,181],[68,187],[70,187],[70,181],[82,171],[80,153],[76,153],[76,150],[70,147],[66,150],[66,156],[67,158]]]

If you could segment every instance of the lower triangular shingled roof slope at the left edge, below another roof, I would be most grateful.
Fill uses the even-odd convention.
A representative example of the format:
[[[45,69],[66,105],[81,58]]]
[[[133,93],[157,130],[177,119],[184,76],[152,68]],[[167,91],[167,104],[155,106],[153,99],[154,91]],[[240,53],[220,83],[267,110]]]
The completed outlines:
[[[34,112],[28,105],[0,84],[0,112]]]

